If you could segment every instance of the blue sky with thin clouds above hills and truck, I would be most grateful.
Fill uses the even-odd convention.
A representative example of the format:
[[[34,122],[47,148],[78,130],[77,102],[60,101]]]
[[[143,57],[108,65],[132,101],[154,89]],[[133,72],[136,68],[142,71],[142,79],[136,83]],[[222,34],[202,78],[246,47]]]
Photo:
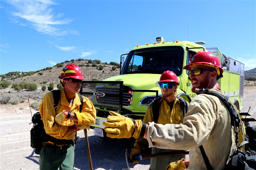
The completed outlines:
[[[71,59],[120,62],[137,45],[205,41],[256,67],[256,1],[0,1],[0,74]]]

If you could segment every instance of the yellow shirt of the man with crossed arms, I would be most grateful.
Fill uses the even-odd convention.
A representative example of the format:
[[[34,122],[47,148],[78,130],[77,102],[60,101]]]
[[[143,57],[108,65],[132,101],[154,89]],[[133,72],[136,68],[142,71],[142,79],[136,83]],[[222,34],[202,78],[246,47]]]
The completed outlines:
[[[43,124],[45,127],[45,131],[47,134],[55,137],[57,139],[73,139],[75,136],[75,132],[66,133],[68,126],[75,125],[77,129],[85,129],[89,128],[89,125],[95,124],[96,111],[91,103],[91,101],[83,96],[83,108],[80,113],[80,105],[81,101],[78,94],[75,95],[72,106],[67,101],[64,90],[61,90],[61,97],[59,100],[58,107],[54,109],[54,99],[53,94],[51,92],[46,93],[43,97],[42,103],[39,106],[39,112],[41,114]],[[73,122],[73,120],[66,119],[63,121],[62,125],[57,124],[54,121],[54,118],[57,114],[63,114],[63,111],[71,111],[74,112],[77,116],[78,122]],[[53,142],[51,142],[53,143]]]

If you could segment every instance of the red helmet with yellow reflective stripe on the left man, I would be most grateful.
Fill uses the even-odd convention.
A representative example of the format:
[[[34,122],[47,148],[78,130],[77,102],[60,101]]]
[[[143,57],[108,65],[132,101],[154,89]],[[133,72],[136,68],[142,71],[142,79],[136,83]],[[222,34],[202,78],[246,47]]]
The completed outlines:
[[[85,78],[83,78],[81,69],[75,64],[66,65],[61,70],[61,75],[59,76],[59,78],[75,78],[80,80],[86,80]]]

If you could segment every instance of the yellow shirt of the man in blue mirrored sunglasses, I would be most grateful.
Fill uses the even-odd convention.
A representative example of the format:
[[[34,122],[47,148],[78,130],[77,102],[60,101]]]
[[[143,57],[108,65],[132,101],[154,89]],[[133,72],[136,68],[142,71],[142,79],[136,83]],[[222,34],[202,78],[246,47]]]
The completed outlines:
[[[173,108],[170,109],[169,105],[166,103],[166,100],[162,97],[159,101],[161,103],[159,110],[158,124],[181,124],[183,122],[183,112],[179,100],[175,97]],[[143,118],[143,123],[153,122],[153,111],[152,111],[153,102],[149,104],[145,116]],[[187,103],[188,105],[188,103]],[[134,143],[134,146],[137,146],[141,149],[144,149],[147,139],[143,137],[138,137]]]

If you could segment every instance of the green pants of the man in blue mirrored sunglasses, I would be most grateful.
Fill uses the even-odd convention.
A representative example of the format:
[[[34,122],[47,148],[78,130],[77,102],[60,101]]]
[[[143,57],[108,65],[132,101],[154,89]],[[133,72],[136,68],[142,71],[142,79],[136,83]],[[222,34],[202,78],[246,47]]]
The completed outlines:
[[[151,154],[158,154],[158,153],[164,153],[164,152],[177,152],[177,151],[183,151],[183,150],[174,150],[174,149],[159,149],[156,147],[153,147],[151,150]],[[164,157],[158,157],[158,158],[151,158],[150,159],[150,170],[165,170],[167,165],[169,165],[171,162],[176,162],[177,160],[181,160],[182,158],[186,158],[186,155],[176,155],[176,156],[164,156]]]

